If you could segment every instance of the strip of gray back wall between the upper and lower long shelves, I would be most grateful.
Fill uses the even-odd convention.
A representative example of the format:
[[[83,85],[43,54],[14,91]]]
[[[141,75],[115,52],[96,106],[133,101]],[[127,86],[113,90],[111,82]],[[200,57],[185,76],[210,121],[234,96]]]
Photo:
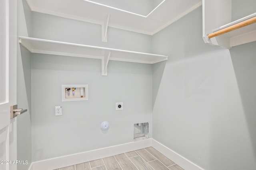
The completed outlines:
[[[32,37],[151,53],[151,36],[108,27],[101,41],[101,25],[32,12]]]

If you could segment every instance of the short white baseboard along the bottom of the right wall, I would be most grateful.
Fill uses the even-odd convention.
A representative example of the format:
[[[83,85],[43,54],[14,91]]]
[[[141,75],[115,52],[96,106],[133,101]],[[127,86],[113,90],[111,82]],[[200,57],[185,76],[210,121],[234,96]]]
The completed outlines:
[[[159,143],[154,139],[152,139],[152,147],[164,154],[167,158],[174,161],[185,170],[204,170],[200,166],[194,164],[190,160],[184,158],[177,152],[171,150],[170,148],[164,146],[162,143]]]

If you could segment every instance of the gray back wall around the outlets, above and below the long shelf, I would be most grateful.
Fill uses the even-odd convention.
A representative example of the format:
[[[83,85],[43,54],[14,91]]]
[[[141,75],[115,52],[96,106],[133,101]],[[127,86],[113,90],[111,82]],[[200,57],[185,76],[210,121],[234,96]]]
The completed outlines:
[[[151,52],[151,36],[100,25],[32,13],[32,36]],[[152,134],[152,65],[110,61],[101,76],[101,61],[32,54],[32,158],[44,160],[133,141],[134,123],[149,122]],[[62,102],[62,84],[88,84],[89,100]],[[124,102],[116,111],[115,103]],[[62,116],[54,106],[62,106]],[[108,121],[103,133],[100,123]]]

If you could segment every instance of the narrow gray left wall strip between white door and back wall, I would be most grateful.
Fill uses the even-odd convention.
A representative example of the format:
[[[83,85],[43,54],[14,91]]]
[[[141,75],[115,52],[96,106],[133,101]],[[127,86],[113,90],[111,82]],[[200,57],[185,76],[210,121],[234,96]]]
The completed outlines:
[[[18,35],[30,36],[31,12],[26,0],[18,1]],[[18,39],[17,39],[18,40]],[[18,43],[18,42],[17,42]],[[17,104],[28,109],[17,120],[17,160],[27,160],[28,164],[18,164],[18,170],[28,170],[32,162],[31,131],[31,57],[30,52],[17,45]]]

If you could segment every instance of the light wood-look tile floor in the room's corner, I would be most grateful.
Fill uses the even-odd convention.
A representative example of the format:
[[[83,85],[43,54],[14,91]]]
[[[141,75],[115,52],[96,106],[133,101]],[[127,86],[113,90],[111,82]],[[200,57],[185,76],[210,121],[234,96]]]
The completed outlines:
[[[153,147],[56,170],[184,170]]]

